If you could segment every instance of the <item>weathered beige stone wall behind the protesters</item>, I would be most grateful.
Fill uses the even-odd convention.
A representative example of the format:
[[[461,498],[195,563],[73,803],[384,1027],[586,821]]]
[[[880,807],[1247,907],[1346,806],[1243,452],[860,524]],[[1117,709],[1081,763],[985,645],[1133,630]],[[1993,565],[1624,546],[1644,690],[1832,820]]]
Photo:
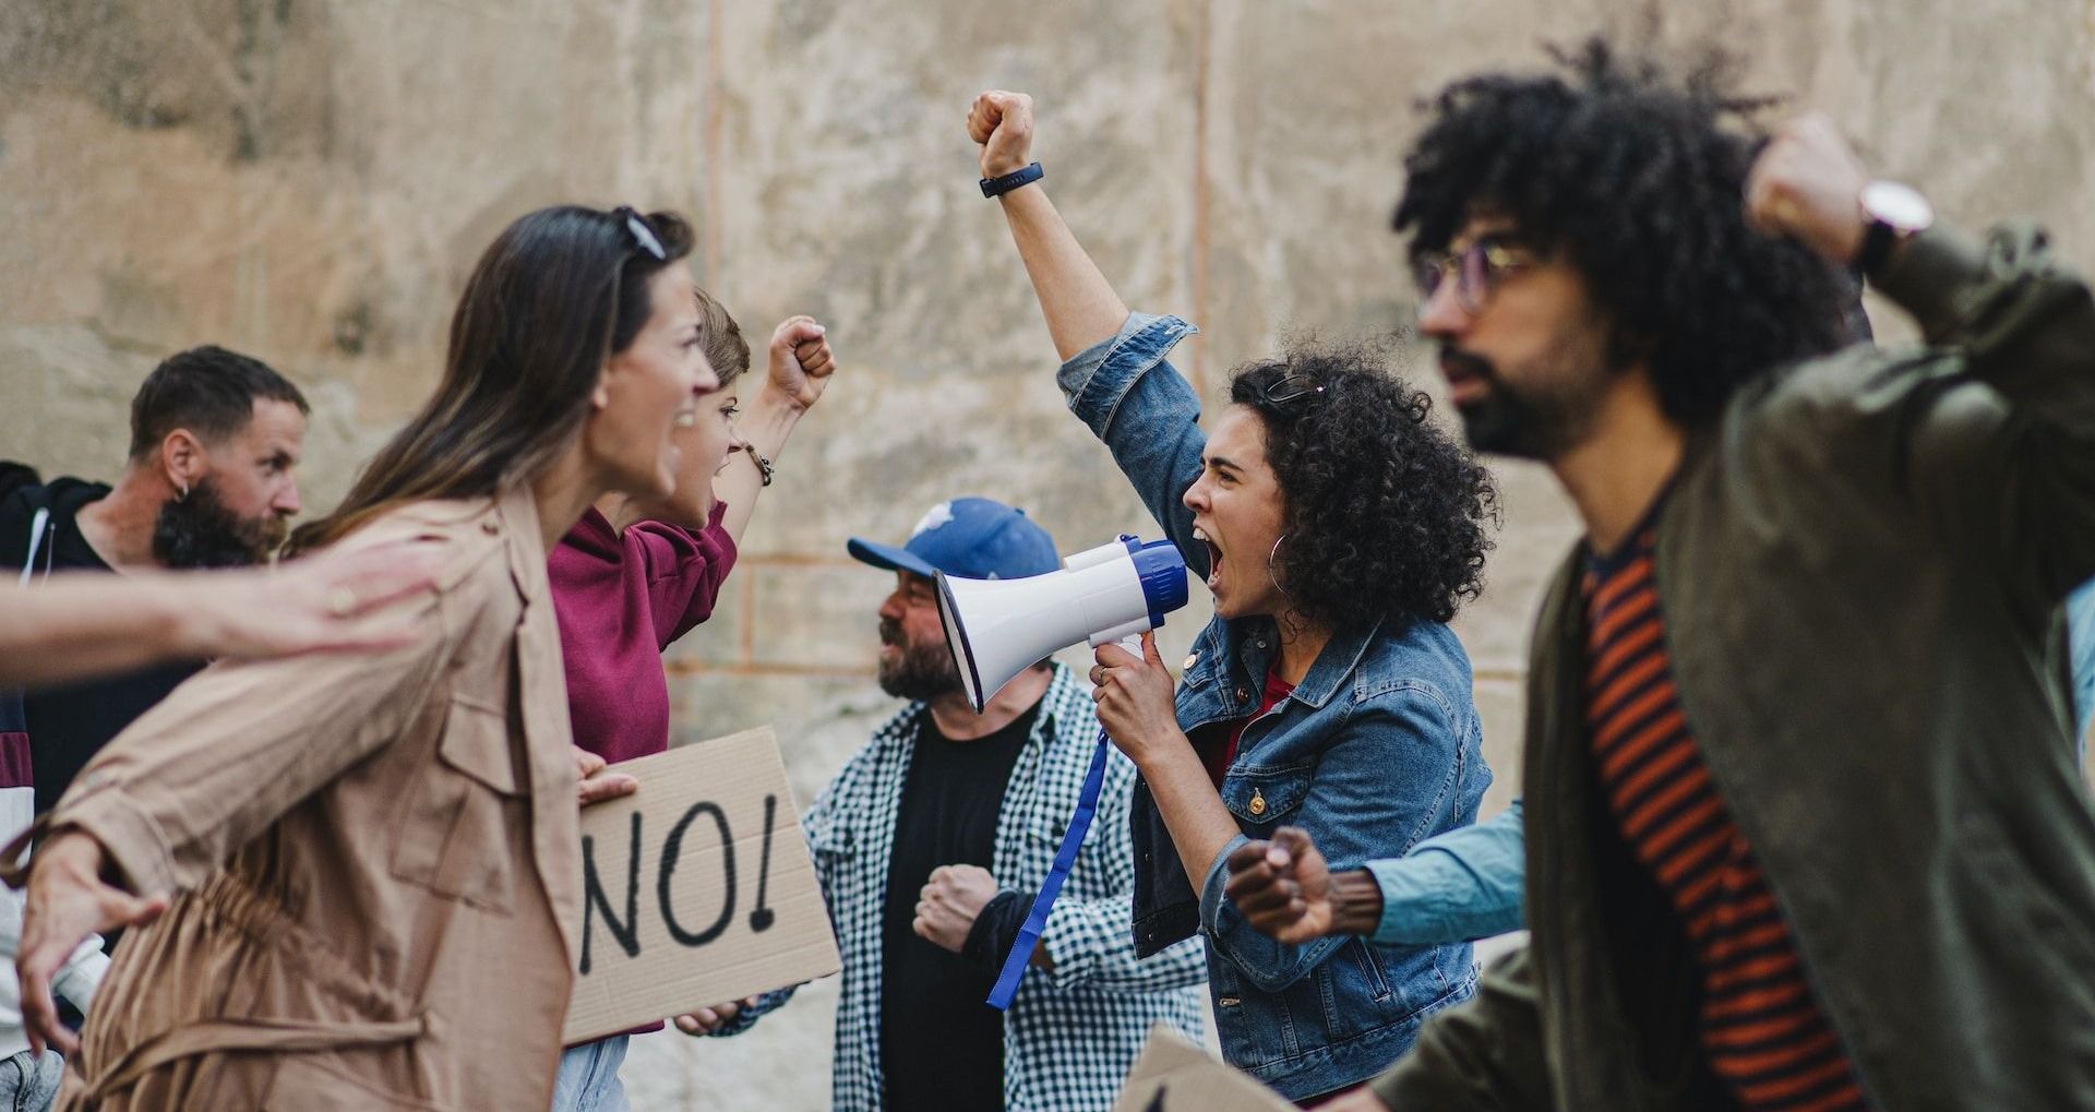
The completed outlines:
[[[1039,96],[1048,186],[1129,304],[1207,331],[1213,398],[1291,333],[1395,333],[1387,235],[1412,101],[1542,40],[1722,40],[1950,220],[2045,218],[2095,262],[2091,0],[10,0],[0,6],[0,457],[107,477],[163,354],[249,350],[314,398],[327,507],[434,381],[480,247],[553,201],[677,207],[760,337],[830,323],[844,371],[779,461],[719,616],[668,660],[679,739],[775,722],[811,800],[892,704],[888,580],[848,534],[1027,505],[1064,549],[1144,530],[1060,408],[1054,352],[960,119]],[[1655,15],[1653,15],[1655,13]],[[1890,316],[1881,316],[1896,331]],[[1408,352],[1416,358],[1416,352]],[[1423,379],[1427,364],[1416,362]],[[1575,526],[1502,467],[1460,622],[1498,808],[1540,580]],[[1154,532],[1154,530],[1148,530]],[[1175,655],[1200,616],[1173,622]],[[733,1043],[641,1039],[643,1110],[823,1108],[834,984]]]

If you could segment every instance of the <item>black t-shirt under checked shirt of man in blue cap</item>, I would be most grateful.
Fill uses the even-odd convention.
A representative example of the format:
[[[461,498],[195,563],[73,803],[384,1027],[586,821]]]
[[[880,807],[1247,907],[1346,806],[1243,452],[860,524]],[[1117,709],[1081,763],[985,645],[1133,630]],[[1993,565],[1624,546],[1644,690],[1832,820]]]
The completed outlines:
[[[926,710],[895,819],[882,917],[880,1064],[897,1112],[1004,1112],[1004,1014],[995,974],[920,938],[918,896],[939,865],[991,869],[1004,787],[1039,704],[974,741],[951,741]],[[1004,880],[1004,877],[997,877]]]

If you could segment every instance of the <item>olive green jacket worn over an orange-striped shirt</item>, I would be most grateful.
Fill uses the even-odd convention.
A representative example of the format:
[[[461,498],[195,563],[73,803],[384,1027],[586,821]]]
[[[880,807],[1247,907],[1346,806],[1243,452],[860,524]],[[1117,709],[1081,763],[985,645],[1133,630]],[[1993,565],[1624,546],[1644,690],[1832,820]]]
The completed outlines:
[[[1659,515],[1697,746],[1877,1108],[2095,1108],[2095,819],[2059,601],[2095,576],[2095,304],[2036,228],[1915,237],[1925,346],[1741,390]],[[1376,1078],[1404,1110],[1722,1106],[1695,959],[1615,838],[1582,557],[1527,687],[1531,944]]]

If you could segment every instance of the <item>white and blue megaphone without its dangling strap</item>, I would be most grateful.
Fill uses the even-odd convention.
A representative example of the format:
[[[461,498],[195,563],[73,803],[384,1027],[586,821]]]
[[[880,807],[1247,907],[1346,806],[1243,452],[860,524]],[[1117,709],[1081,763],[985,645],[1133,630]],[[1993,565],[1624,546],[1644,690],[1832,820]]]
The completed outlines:
[[[1169,540],[1121,536],[1016,580],[934,576],[945,643],[980,714],[1018,672],[1079,641],[1094,649],[1165,624],[1186,605],[1186,557]]]

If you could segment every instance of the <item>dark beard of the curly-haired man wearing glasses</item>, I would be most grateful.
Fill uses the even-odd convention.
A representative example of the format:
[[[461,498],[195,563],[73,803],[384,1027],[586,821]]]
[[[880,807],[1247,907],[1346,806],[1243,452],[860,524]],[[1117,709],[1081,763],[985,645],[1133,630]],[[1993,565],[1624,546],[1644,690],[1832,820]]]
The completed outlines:
[[[1513,385],[1498,366],[1454,346],[1441,348],[1441,364],[1481,379],[1481,398],[1456,404],[1469,446],[1515,459],[1554,461],[1592,436],[1601,398],[1611,373],[1590,343],[1559,343],[1546,366],[1529,366]]]

